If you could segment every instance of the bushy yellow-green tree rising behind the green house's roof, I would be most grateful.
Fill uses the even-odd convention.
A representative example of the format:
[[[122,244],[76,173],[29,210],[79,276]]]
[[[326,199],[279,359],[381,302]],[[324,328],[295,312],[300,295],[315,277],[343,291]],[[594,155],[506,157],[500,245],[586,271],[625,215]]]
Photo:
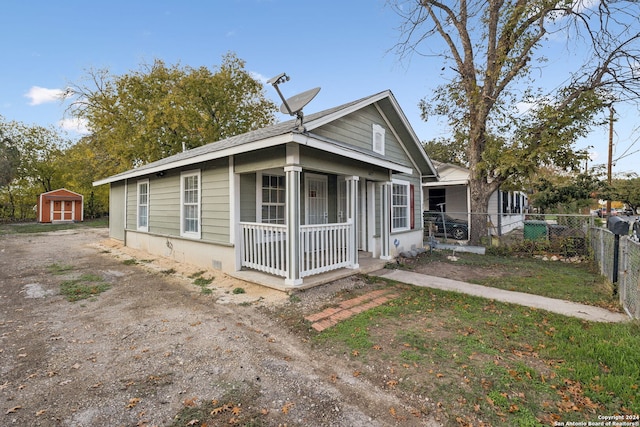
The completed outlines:
[[[264,87],[227,54],[215,70],[161,60],[123,75],[90,70],[68,90],[69,113],[86,121],[110,173],[275,122]]]

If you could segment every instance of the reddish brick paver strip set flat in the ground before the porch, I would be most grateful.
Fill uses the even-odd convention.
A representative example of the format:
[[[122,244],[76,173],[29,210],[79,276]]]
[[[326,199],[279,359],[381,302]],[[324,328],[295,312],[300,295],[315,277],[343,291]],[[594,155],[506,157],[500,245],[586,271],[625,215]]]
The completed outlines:
[[[342,301],[337,307],[329,307],[319,313],[306,316],[305,320],[311,322],[313,329],[322,332],[338,324],[341,320],[378,307],[397,297],[398,294],[393,293],[391,290],[379,289],[356,298]]]

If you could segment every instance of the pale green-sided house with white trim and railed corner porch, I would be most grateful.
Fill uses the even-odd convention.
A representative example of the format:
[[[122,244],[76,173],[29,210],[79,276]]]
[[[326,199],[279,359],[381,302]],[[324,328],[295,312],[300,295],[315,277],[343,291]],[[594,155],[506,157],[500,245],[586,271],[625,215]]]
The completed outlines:
[[[393,94],[304,119],[96,181],[110,237],[279,289],[422,247],[422,184],[437,174]]]

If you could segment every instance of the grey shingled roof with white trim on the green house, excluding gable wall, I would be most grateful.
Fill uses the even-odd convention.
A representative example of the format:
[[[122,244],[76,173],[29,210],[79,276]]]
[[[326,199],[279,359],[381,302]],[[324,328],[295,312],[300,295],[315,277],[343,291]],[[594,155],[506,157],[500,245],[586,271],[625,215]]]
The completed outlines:
[[[323,110],[305,116],[304,131],[299,131],[296,127],[296,120],[288,120],[275,125],[267,126],[241,135],[232,136],[217,142],[209,143],[200,147],[183,151],[173,156],[148,163],[135,169],[119,173],[117,175],[104,178],[93,183],[94,186],[117,182],[128,178],[135,178],[147,174],[165,171],[167,169],[192,165],[207,160],[227,157],[230,155],[250,152],[260,148],[272,147],[297,142],[299,144],[315,146],[319,149],[331,151],[350,158],[356,158],[376,164],[397,172],[410,173],[411,168],[399,165],[387,160],[384,156],[358,149],[357,147],[340,141],[320,138],[313,135],[313,130],[320,126],[340,119],[354,111],[368,105],[376,104],[377,108],[389,120],[389,125],[398,132],[400,141],[408,140],[410,143],[403,148],[413,159],[414,164],[423,175],[437,176],[436,168],[427,157],[415,132],[411,128],[409,121],[400,109],[398,102],[391,93],[386,90],[375,95],[358,99],[347,104]]]

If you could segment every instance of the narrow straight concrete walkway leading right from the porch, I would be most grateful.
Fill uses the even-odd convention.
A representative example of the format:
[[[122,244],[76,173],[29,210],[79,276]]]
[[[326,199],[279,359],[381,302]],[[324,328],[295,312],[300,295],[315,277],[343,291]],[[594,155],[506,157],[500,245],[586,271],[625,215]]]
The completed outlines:
[[[526,294],[524,292],[513,292],[488,286],[474,285],[442,277],[427,276],[426,274],[414,273],[411,271],[380,270],[376,273],[372,273],[372,275],[415,286],[460,292],[496,301],[534,307],[540,310],[563,314],[565,316],[590,320],[592,322],[624,322],[629,320],[629,317],[625,314],[613,313],[600,307],[547,298],[539,295]]]

